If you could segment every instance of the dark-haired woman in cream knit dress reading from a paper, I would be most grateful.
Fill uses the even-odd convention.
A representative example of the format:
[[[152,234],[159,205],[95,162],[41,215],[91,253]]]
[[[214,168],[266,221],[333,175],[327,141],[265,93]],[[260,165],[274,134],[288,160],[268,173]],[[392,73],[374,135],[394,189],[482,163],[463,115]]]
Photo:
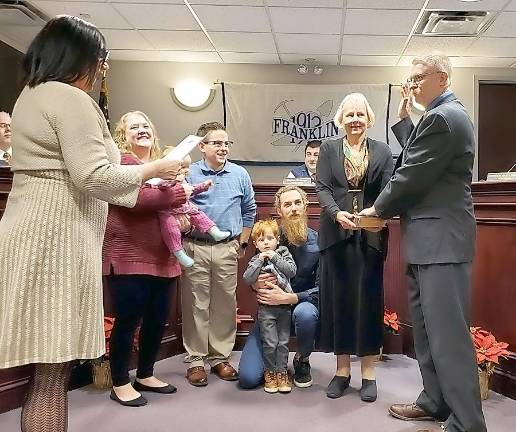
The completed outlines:
[[[100,31],[50,20],[23,60],[13,112],[12,191],[0,221],[0,368],[34,364],[22,431],[67,429],[75,359],[104,353],[102,240],[108,202],[132,207],[140,185],[180,163],[121,166],[87,92],[108,69]]]

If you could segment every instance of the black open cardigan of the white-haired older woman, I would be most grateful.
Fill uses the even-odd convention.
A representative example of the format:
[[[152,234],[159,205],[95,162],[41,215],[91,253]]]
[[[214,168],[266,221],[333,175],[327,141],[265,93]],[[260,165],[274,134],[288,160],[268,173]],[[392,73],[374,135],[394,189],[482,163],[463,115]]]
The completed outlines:
[[[370,207],[392,175],[392,153],[381,141],[367,138],[369,167],[359,196],[359,208]],[[353,194],[348,191],[348,179],[344,171],[344,150],[342,139],[326,141],[319,151],[317,160],[317,197],[321,206],[319,225],[319,249],[324,250],[349,238],[354,231],[342,229],[335,221],[340,210],[353,212]],[[385,232],[371,233],[362,230],[367,243],[383,252]]]

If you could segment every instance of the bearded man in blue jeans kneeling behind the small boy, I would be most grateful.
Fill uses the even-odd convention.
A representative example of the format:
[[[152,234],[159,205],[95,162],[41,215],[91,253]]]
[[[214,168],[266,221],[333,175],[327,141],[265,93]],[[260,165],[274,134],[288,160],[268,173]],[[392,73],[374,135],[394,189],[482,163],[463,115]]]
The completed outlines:
[[[317,231],[307,224],[307,206],[306,192],[297,186],[284,186],[276,192],[274,208],[280,215],[280,245],[288,248],[297,267],[290,281],[293,292],[283,291],[272,273],[258,276],[253,286],[260,304],[289,305],[292,309],[292,327],[297,339],[294,385],[299,388],[313,384],[309,359],[319,319],[319,247]],[[240,388],[252,389],[263,382],[265,365],[258,324],[247,336],[238,367]]]

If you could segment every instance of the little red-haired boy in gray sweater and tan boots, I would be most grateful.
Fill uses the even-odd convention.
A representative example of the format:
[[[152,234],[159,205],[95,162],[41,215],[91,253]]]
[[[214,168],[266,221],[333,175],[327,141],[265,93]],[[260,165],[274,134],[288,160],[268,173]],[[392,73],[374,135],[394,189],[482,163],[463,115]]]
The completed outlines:
[[[251,239],[259,253],[249,261],[244,280],[252,285],[260,273],[272,273],[278,286],[292,292],[290,278],[296,275],[296,264],[289,250],[279,246],[279,227],[275,220],[263,220],[254,224]],[[258,324],[265,364],[267,393],[289,393],[292,388],[288,379],[288,341],[290,338],[290,305],[269,306],[258,304]]]

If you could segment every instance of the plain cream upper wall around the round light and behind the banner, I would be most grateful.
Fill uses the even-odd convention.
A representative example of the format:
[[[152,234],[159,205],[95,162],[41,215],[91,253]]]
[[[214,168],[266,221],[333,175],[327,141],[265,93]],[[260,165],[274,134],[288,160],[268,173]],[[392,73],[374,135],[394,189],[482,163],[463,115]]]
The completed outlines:
[[[398,84],[408,75],[407,67],[326,66],[323,75],[299,75],[294,65],[250,65],[170,62],[110,63],[108,75],[109,111],[113,124],[129,110],[146,112],[156,125],[162,144],[175,144],[195,133],[207,121],[222,121],[220,86],[210,106],[199,112],[179,108],[170,97],[170,88],[185,79],[206,83],[216,81],[270,84]],[[514,69],[456,68],[452,89],[471,117],[475,118],[475,77],[514,79]],[[249,119],[253,121],[253,119]],[[199,157],[199,155],[197,155]],[[194,155],[194,160],[196,156]],[[288,172],[283,167],[248,167],[253,182],[281,181]]]

